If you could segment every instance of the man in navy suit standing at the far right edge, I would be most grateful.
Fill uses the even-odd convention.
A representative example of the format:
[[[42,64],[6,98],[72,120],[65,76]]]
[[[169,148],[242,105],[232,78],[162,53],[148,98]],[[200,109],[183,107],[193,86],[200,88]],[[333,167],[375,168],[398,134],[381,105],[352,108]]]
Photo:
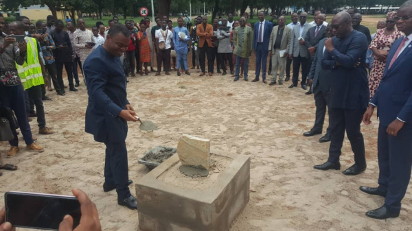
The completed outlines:
[[[395,17],[405,36],[391,47],[385,71],[369,102],[363,123],[369,125],[378,108],[379,186],[361,191],[385,197],[385,204],[366,213],[374,219],[398,217],[401,201],[411,179],[412,165],[412,1],[403,3]]]

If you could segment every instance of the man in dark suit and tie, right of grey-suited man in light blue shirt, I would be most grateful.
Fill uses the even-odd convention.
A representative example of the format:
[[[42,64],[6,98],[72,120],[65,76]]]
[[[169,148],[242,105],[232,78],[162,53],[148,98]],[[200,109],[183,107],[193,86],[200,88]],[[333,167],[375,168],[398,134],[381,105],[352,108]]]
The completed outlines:
[[[315,23],[314,27],[311,27],[308,30],[308,33],[306,34],[305,45],[306,47],[308,47],[308,51],[310,54],[310,59],[308,60],[309,70],[310,70],[310,67],[312,66],[312,62],[314,60],[314,53],[316,52],[319,41],[326,37],[326,26],[323,25],[324,21],[325,21],[325,18],[323,17],[323,14],[318,14],[314,18],[314,23]],[[306,95],[310,95],[310,94],[312,94],[311,87],[309,87],[309,90],[306,93]]]

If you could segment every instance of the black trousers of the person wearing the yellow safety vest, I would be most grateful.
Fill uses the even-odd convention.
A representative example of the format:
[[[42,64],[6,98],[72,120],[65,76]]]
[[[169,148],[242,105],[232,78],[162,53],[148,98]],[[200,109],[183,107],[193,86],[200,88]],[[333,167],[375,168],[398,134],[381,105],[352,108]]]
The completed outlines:
[[[46,118],[45,118],[45,108],[43,106],[43,101],[41,99],[42,98],[41,85],[32,86],[31,88],[26,89],[25,93],[27,95],[26,97],[27,115],[29,115],[31,112],[30,102],[33,102],[33,104],[36,106],[38,127],[40,128],[45,127]]]

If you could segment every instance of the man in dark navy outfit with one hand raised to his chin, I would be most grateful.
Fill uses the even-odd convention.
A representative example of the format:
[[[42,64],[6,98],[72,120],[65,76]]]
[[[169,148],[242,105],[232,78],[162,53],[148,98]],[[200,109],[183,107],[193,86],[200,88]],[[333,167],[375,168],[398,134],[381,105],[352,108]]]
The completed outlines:
[[[343,171],[357,175],[366,169],[365,143],[361,133],[363,113],[369,101],[367,72],[364,68],[367,39],[352,28],[350,14],[339,12],[331,22],[336,36],[325,40],[323,69],[330,69],[330,133],[328,161],[314,169],[341,169],[339,157],[345,130],[355,154],[355,164]]]

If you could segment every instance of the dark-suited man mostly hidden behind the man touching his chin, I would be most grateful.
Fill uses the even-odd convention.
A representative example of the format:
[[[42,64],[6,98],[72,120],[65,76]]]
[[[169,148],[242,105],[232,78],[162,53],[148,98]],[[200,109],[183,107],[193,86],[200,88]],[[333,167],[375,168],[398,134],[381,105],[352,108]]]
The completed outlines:
[[[312,29],[312,28],[311,28]],[[333,36],[332,28],[330,25],[325,29],[328,38]],[[325,121],[326,108],[329,112],[330,103],[330,73],[328,69],[322,68],[323,54],[325,53],[325,40],[323,38],[319,45],[317,45],[317,51],[312,62],[312,67],[309,71],[309,84],[313,88],[314,93],[314,105],[316,106],[316,117],[314,119],[314,126],[308,132],[304,133],[304,136],[314,136],[317,134],[322,134],[323,122]],[[330,129],[326,129],[325,136],[319,139],[319,142],[330,141]]]

